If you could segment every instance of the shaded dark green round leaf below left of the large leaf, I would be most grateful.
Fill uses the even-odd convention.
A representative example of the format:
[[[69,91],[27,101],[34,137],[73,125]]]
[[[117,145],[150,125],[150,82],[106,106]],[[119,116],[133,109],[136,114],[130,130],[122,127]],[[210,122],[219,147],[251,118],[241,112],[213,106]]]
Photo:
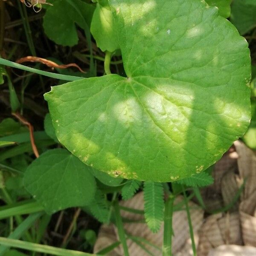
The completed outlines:
[[[24,184],[49,214],[88,205],[96,191],[89,167],[61,148],[48,150],[34,160],[26,169]]]

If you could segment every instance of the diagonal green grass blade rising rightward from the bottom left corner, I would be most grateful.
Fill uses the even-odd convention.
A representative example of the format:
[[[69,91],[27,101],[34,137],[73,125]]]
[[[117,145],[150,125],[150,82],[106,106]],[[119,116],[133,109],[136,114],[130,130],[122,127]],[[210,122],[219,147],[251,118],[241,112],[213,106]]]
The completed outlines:
[[[15,230],[14,232],[8,237],[5,238],[6,240],[12,240],[12,239],[19,239],[23,233],[25,233],[31,226],[34,224],[34,222],[42,215],[42,212],[37,212],[35,214],[29,215],[29,217],[26,218]],[[9,247],[13,246],[12,243],[1,243],[0,246],[0,256],[5,255],[6,251],[9,249]]]

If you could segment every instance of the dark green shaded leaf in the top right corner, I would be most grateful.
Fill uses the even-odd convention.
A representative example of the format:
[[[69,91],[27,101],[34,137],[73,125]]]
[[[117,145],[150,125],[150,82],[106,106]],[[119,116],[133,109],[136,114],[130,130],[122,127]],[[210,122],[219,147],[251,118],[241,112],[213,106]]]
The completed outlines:
[[[230,21],[236,26],[241,35],[256,27],[256,1],[233,0]]]

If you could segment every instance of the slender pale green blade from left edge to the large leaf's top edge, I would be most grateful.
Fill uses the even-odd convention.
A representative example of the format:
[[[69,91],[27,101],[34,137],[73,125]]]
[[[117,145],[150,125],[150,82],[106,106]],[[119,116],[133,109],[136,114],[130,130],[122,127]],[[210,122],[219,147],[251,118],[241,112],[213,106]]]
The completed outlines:
[[[65,80],[65,81],[76,81],[76,80],[84,79],[84,77],[80,77],[80,76],[67,76],[67,75],[61,75],[61,74],[51,73],[51,72],[47,72],[47,71],[37,70],[35,68],[26,67],[24,65],[17,64],[15,62],[8,61],[8,60],[3,59],[3,58],[0,58],[0,65],[5,65],[5,66],[8,66],[8,67],[15,67],[15,68],[25,70],[25,71],[29,71],[29,72],[32,72],[32,73],[36,73],[36,74],[39,74],[39,75],[42,75],[42,76],[48,76],[48,77],[51,77],[51,78]]]

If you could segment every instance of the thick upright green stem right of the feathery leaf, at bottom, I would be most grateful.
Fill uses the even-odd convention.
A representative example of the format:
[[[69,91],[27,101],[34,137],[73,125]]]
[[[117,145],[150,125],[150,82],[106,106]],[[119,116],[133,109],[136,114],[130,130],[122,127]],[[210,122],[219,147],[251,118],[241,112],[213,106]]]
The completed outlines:
[[[164,210],[163,256],[172,256],[172,215],[175,196],[170,194]]]

